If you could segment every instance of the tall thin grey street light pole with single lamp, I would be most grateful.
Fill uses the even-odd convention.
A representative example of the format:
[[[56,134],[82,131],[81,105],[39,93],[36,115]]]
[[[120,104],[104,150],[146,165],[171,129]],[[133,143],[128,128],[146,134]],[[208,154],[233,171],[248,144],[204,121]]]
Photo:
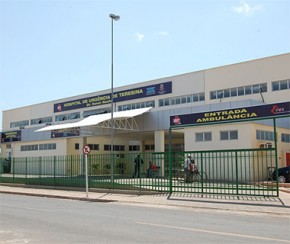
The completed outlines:
[[[120,19],[119,15],[110,14],[109,15],[112,20],[112,46],[111,46],[111,180],[114,180],[114,21],[118,21]]]

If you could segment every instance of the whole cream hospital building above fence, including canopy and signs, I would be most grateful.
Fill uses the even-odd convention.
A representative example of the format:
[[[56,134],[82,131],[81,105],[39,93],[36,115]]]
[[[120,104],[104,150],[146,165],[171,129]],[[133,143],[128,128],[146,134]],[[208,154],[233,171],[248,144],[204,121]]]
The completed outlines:
[[[1,157],[79,155],[85,145],[120,155],[276,146],[278,165],[290,165],[290,53],[113,94],[113,106],[107,89],[3,111]]]

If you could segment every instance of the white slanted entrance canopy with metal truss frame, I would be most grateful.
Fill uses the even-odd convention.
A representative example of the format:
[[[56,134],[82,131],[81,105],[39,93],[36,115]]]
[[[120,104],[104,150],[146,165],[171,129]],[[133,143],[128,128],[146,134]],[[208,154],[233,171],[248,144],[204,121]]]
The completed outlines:
[[[114,128],[124,130],[138,130],[138,126],[134,117],[148,112],[152,107],[140,108],[134,110],[126,110],[113,113]],[[85,119],[82,119],[74,123],[56,124],[43,127],[36,130],[35,132],[50,131],[50,130],[62,130],[74,127],[85,127],[85,126],[98,126],[110,128],[111,124],[111,113],[91,115]]]

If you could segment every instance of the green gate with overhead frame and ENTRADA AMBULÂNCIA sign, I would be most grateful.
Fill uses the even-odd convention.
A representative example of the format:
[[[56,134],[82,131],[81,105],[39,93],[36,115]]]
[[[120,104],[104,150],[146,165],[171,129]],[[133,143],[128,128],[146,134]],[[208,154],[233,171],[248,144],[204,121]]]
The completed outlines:
[[[170,116],[170,192],[279,196],[278,182],[272,181],[272,173],[278,168],[276,120],[289,117],[289,102]],[[179,158],[182,161],[190,154],[200,173],[189,183],[179,180],[182,174],[180,170],[175,173],[178,159],[172,151],[172,130],[258,120],[273,121],[273,148],[186,152]],[[277,170],[274,178],[278,178]]]

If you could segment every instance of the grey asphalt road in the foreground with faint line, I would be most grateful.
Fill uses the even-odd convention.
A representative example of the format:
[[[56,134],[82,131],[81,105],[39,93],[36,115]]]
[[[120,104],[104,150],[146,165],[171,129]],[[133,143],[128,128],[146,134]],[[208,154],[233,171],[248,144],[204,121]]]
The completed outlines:
[[[0,194],[0,243],[290,243],[290,217]]]

